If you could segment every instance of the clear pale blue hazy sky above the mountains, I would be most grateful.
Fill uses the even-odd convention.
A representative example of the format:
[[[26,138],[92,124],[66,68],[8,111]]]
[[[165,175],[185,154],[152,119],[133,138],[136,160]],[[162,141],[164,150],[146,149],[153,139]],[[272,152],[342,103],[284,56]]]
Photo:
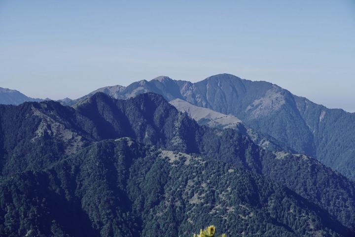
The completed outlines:
[[[355,111],[355,0],[0,0],[0,87],[76,99],[218,73]]]

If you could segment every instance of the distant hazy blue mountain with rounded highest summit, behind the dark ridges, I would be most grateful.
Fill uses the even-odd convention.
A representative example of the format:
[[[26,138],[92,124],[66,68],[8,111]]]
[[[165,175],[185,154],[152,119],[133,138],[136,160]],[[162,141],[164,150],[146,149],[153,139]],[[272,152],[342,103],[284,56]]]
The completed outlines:
[[[181,99],[193,105],[231,114],[262,134],[293,150],[313,156],[326,166],[355,180],[355,114],[328,109],[292,95],[277,85],[219,74],[197,83],[158,77],[135,82],[106,93],[127,99],[154,92],[168,101]]]

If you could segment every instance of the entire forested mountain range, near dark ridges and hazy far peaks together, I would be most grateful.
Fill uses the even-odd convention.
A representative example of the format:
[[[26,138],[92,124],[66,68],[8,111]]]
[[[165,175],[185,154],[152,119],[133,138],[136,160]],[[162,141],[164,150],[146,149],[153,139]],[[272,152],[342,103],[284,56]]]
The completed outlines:
[[[0,236],[355,236],[353,116],[229,74],[0,105]]]

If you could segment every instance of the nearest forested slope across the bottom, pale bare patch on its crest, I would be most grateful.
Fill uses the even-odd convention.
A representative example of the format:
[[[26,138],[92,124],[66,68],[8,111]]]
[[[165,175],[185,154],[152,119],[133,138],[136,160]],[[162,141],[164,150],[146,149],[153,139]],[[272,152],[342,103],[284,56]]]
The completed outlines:
[[[209,223],[228,236],[352,235],[260,175],[130,138],[95,143],[43,171],[1,178],[0,189],[4,236],[190,237]]]

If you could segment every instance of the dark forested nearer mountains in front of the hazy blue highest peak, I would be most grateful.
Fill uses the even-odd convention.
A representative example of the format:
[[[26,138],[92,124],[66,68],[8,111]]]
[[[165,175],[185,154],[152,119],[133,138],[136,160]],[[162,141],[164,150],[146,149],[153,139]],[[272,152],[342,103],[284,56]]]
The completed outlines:
[[[157,94],[0,105],[0,129],[4,236],[355,234],[353,182]]]

